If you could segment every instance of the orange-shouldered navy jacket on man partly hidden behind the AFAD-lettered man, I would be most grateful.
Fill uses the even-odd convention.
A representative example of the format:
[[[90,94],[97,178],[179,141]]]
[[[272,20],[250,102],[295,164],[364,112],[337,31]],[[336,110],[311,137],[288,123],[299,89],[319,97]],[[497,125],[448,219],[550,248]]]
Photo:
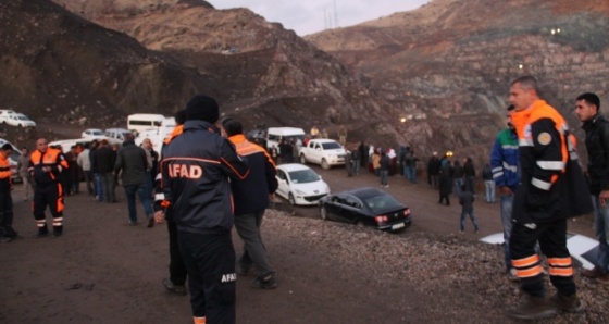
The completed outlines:
[[[228,138],[237,154],[249,166],[249,175],[243,182],[231,182],[235,197],[235,216],[262,211],[269,207],[269,195],[277,190],[277,171],[266,150],[246,139],[243,134]]]

